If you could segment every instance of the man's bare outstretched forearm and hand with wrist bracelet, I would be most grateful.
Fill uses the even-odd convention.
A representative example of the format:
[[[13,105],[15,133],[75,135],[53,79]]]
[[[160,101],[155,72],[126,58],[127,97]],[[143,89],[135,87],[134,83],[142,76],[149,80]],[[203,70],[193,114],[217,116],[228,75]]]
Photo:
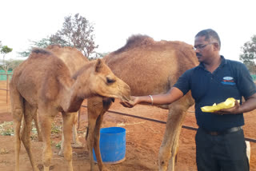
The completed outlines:
[[[131,101],[120,101],[120,103],[125,106],[132,108],[134,105],[148,103],[153,105],[169,105],[174,101],[178,101],[183,96],[183,93],[180,89],[173,87],[167,93],[156,94],[150,96],[139,96],[131,97]]]

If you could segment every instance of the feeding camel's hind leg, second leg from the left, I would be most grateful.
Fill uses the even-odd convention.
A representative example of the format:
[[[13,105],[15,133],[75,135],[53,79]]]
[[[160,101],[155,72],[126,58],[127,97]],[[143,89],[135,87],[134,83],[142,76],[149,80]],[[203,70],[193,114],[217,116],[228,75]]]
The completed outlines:
[[[37,109],[26,102],[24,110],[24,120],[22,125],[22,143],[26,149],[26,153],[29,155],[30,163],[33,170],[38,170],[37,166],[34,163],[34,157],[31,151],[31,142],[30,142],[30,132],[31,132],[31,122],[34,115],[36,115]]]

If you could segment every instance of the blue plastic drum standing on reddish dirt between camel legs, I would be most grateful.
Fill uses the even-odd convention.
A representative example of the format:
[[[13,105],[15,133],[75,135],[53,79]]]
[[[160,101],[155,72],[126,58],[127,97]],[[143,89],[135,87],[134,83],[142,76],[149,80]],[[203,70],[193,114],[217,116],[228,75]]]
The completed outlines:
[[[121,127],[102,128],[100,130],[99,148],[103,163],[116,164],[125,161],[126,129]],[[94,161],[97,162],[95,153]]]

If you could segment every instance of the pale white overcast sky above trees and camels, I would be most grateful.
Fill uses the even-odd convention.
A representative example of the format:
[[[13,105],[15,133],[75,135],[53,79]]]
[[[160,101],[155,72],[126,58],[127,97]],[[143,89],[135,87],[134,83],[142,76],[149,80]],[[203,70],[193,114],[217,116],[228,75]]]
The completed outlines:
[[[55,34],[66,16],[79,13],[94,25],[98,53],[118,50],[135,34],[194,45],[195,34],[211,28],[221,54],[238,61],[256,34],[255,6],[255,0],[8,0],[0,3],[0,41],[13,48],[6,59],[18,58],[30,41]]]

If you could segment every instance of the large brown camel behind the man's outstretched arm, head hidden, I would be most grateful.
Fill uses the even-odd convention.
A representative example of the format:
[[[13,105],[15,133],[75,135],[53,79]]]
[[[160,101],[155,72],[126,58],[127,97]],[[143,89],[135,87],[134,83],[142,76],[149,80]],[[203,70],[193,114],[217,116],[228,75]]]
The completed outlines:
[[[198,65],[193,47],[185,42],[154,42],[147,36],[133,36],[126,46],[108,54],[106,65],[130,85],[131,94],[136,96],[166,93],[188,69]],[[178,151],[178,138],[186,110],[194,104],[190,93],[171,105],[159,105],[169,109],[166,131],[159,149],[159,170],[174,170]],[[100,97],[88,99],[90,167],[93,170],[93,147],[100,170],[104,170],[99,153],[99,129],[103,114],[110,108],[111,101]],[[94,106],[94,107],[93,107]],[[96,106],[96,107],[95,107]]]

